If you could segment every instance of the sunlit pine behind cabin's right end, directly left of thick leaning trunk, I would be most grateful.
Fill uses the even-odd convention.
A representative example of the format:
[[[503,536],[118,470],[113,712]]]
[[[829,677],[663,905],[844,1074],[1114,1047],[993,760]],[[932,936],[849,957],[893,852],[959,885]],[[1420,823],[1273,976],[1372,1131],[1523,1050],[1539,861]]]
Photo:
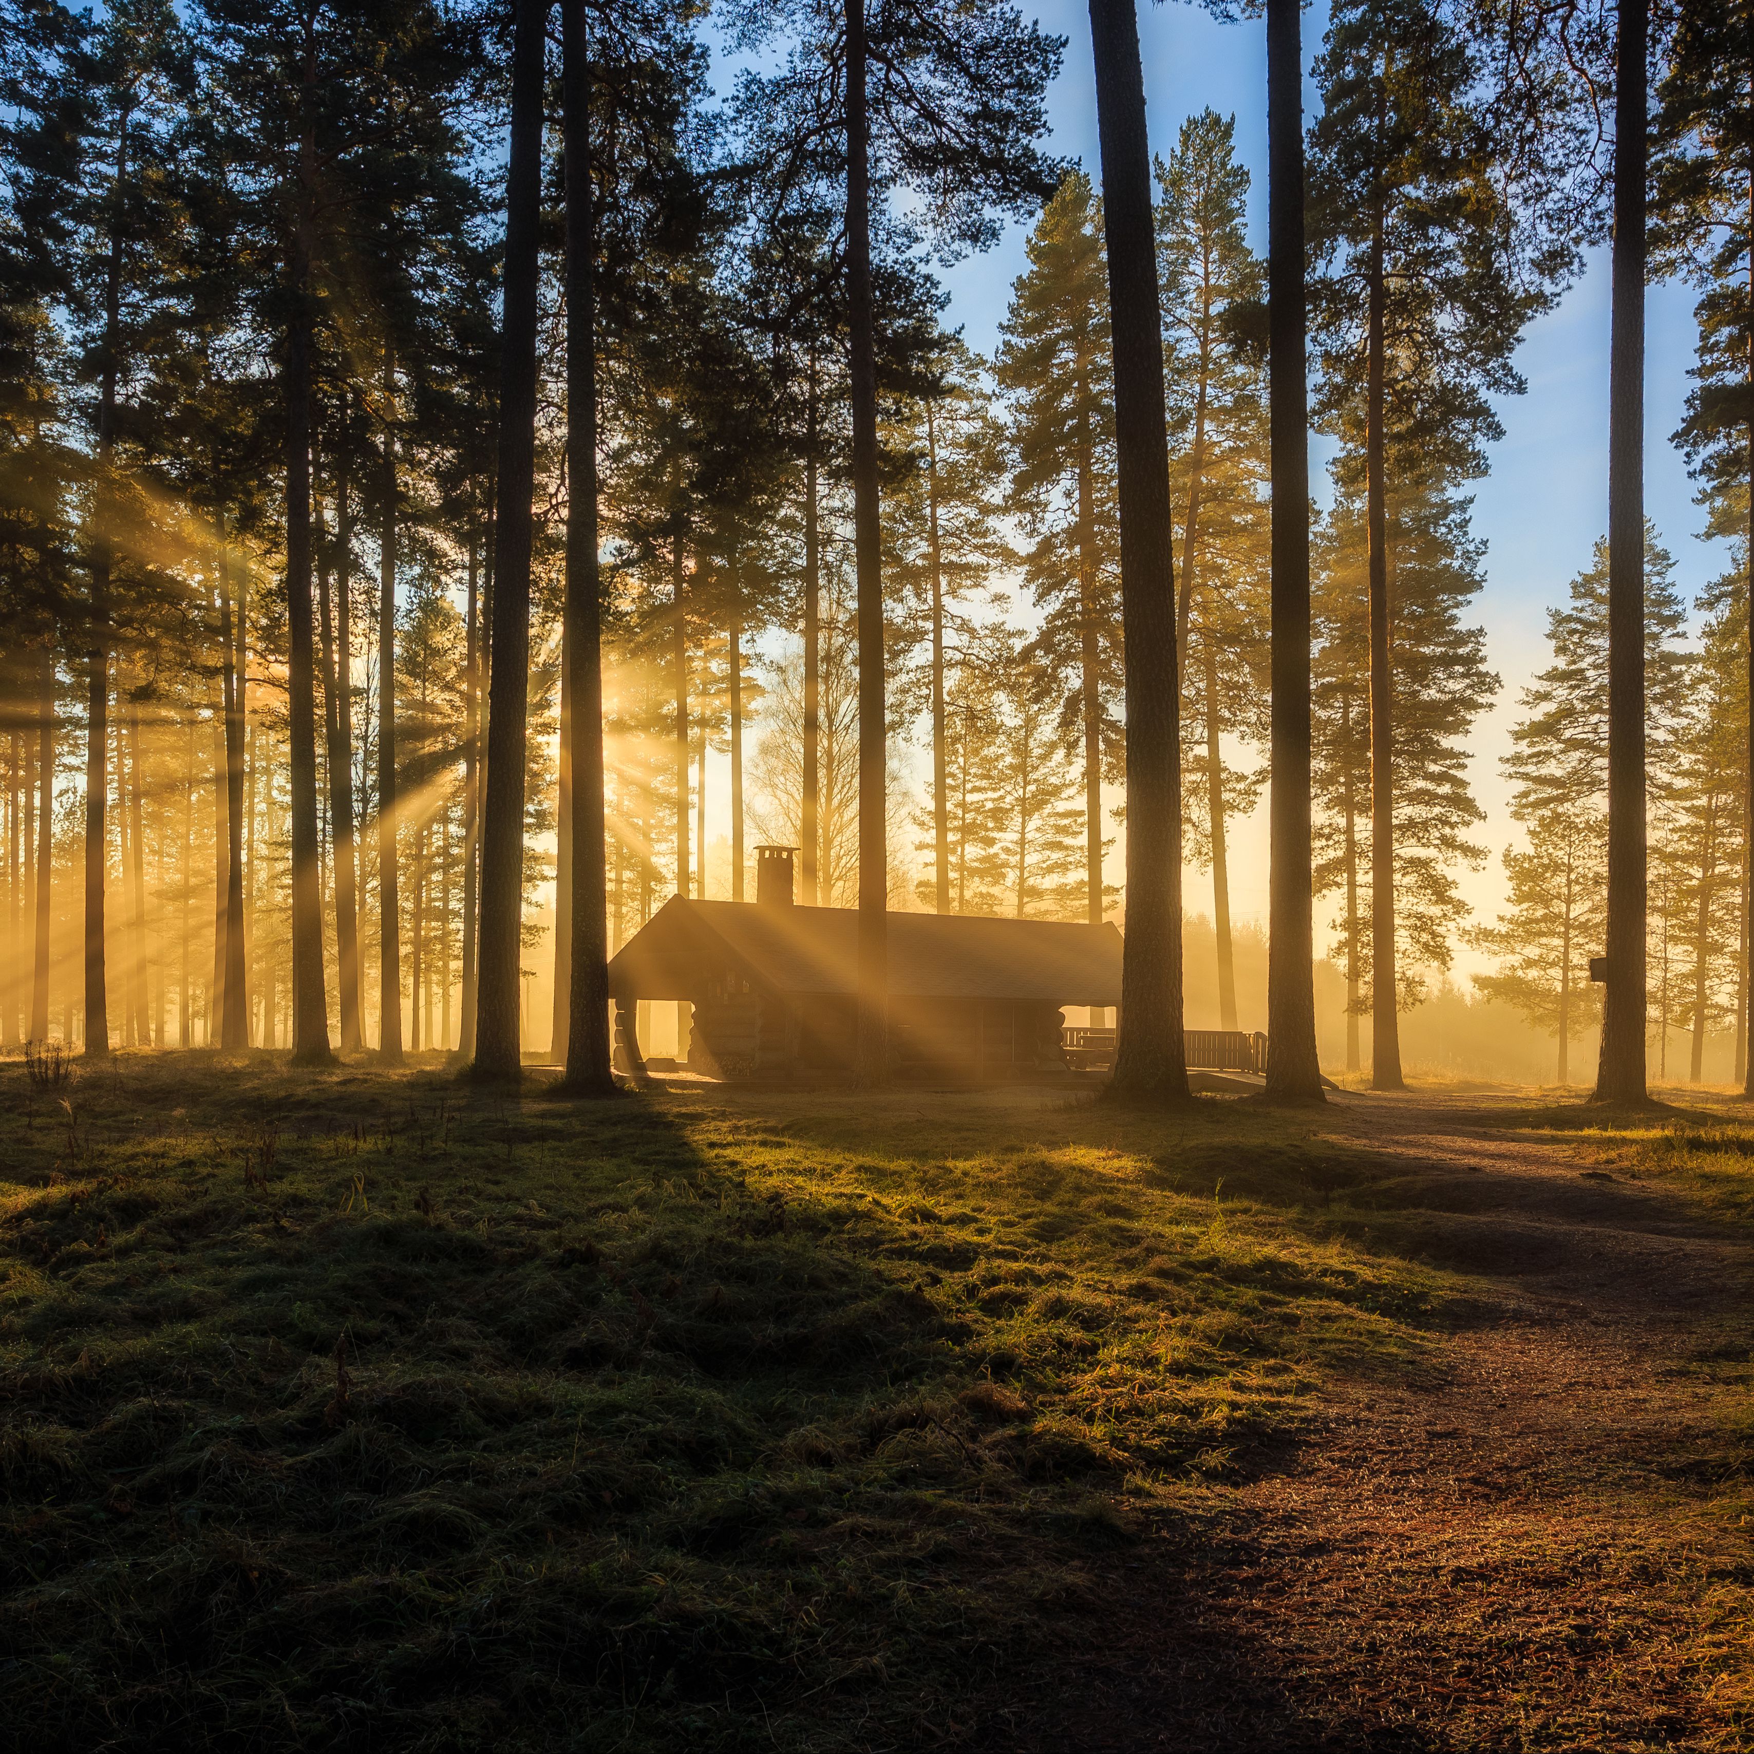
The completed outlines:
[[[1010,403],[1010,500],[1035,537],[1026,579],[1038,651],[1082,754],[1084,886],[1102,923],[1103,775],[1119,768],[1121,577],[1116,547],[1114,356],[1100,212],[1073,172],[1042,210],[1012,288],[998,360]]]

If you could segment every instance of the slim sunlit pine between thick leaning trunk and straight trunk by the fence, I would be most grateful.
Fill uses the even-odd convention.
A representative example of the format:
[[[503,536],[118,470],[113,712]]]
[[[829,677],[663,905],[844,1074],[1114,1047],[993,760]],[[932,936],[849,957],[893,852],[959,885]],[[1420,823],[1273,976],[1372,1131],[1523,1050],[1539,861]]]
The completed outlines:
[[[1156,168],[1175,386],[1170,491],[1182,517],[1182,816],[1193,863],[1212,870],[1219,1019],[1235,1030],[1226,817],[1254,807],[1265,772],[1228,766],[1221,744],[1226,735],[1266,740],[1266,409],[1254,344],[1265,279],[1244,235],[1249,174],[1235,161],[1235,119],[1210,109],[1189,116],[1170,161]]]

